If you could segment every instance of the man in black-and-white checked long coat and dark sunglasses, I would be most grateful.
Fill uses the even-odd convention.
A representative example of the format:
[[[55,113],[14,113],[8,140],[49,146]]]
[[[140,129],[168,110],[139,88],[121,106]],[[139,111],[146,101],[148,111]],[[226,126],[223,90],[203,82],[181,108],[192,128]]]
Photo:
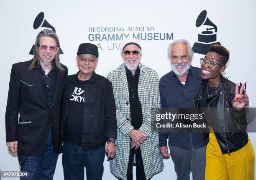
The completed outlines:
[[[111,71],[117,116],[116,155],[110,171],[121,180],[148,180],[164,168],[157,131],[151,127],[151,107],[160,107],[159,80],[156,71],[141,64],[141,44],[127,39],[120,44],[124,63]]]

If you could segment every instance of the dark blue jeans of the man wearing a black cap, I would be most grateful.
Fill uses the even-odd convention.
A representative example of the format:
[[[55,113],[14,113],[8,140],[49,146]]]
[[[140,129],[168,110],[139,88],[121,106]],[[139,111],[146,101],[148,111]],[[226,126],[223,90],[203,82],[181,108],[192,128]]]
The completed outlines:
[[[96,150],[82,150],[80,145],[64,142],[62,166],[65,180],[102,180],[105,147]]]

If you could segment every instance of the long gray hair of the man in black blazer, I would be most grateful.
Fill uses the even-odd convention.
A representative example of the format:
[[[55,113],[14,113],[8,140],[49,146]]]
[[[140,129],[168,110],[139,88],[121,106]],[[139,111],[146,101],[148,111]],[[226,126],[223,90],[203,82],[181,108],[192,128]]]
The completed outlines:
[[[28,70],[32,70],[35,67],[39,67],[40,57],[38,55],[38,51],[39,51],[40,38],[42,36],[49,36],[49,37],[54,38],[54,40],[56,42],[56,46],[59,47],[59,38],[53,30],[44,29],[41,32],[39,32],[38,35],[36,36],[36,42],[35,42],[34,49],[33,49],[34,58],[33,58],[31,65],[28,67]],[[65,69],[63,67],[61,67],[61,62],[59,60],[59,50],[56,52],[54,60],[52,62],[55,62],[56,68],[59,71],[61,71],[61,72],[65,71]]]

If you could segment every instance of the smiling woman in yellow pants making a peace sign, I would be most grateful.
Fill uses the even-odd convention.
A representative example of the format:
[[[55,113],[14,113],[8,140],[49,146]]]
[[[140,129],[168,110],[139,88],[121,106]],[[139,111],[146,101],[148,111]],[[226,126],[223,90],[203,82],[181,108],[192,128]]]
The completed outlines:
[[[233,107],[238,114],[242,114],[244,111],[241,108],[248,107],[243,95],[245,83],[239,90],[238,84],[221,75],[228,59],[229,52],[221,45],[210,46],[201,59],[204,83],[194,103],[196,107],[220,108],[220,115],[216,113],[219,118],[215,121],[224,130],[223,133],[202,133],[204,139],[208,136],[210,139],[206,150],[205,180],[254,180],[254,150],[248,134],[245,130],[239,133],[227,130],[232,122],[230,116],[224,115],[224,109]],[[238,129],[244,125],[240,124],[240,120],[236,123]]]

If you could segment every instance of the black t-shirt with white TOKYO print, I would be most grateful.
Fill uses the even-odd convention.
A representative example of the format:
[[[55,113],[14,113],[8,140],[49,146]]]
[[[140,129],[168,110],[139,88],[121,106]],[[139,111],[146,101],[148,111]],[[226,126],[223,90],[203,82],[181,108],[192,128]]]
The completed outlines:
[[[81,81],[76,78],[76,87],[70,97],[69,115],[64,127],[64,142],[72,145],[82,145],[84,100],[86,99],[84,85],[87,82],[87,80]]]

